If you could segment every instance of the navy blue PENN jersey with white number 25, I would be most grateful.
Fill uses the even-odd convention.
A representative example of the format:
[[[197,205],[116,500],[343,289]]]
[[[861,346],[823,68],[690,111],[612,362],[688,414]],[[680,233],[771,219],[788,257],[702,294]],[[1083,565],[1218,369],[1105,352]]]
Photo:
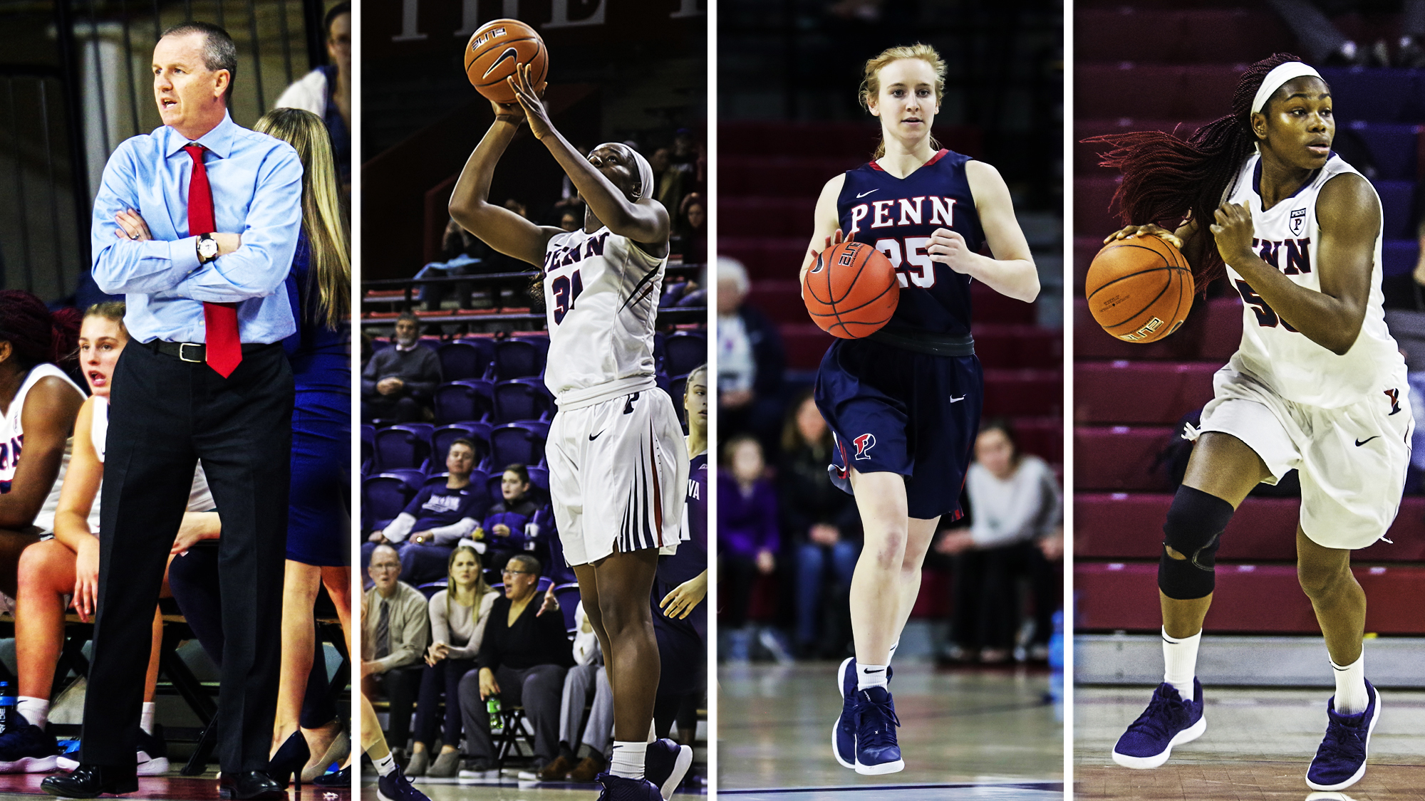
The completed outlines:
[[[886,329],[901,334],[970,332],[970,278],[925,248],[936,228],[965,237],[970,252],[985,245],[975,197],[965,177],[970,157],[942,150],[905,178],[875,161],[846,171],[836,219],[846,239],[866,242],[891,259],[901,279],[901,302]]]

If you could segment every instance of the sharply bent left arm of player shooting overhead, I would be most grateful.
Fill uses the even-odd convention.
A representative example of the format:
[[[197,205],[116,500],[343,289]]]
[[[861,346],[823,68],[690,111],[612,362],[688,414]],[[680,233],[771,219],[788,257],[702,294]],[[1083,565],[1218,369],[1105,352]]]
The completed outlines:
[[[480,144],[475,145],[475,153],[465,162],[455,191],[450,192],[450,217],[496,251],[542,267],[544,264],[544,245],[560,229],[542,228],[519,214],[490,202],[490,180],[494,178],[494,165],[520,130],[520,120],[510,105],[493,105],[494,123]]]

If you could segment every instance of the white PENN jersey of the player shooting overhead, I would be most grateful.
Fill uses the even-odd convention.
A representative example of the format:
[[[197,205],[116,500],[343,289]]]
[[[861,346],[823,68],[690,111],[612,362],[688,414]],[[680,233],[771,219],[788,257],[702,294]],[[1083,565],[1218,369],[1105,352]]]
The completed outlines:
[[[667,258],[607,227],[557,234],[544,249],[544,386],[577,409],[657,386],[653,326]]]

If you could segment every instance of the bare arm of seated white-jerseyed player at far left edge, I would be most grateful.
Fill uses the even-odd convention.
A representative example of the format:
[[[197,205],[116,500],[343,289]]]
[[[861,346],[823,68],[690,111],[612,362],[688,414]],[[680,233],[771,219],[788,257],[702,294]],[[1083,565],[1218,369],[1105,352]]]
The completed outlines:
[[[64,440],[74,430],[84,396],[58,378],[41,378],[24,403],[24,456],[14,469],[10,492],[0,495],[0,529],[23,530],[54,489],[64,459]]]

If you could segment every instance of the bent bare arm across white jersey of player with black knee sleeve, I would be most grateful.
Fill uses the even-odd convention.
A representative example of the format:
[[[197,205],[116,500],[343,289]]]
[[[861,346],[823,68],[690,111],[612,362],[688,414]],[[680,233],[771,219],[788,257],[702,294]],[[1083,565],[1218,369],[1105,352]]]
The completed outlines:
[[[1371,296],[1375,237],[1381,204],[1365,178],[1354,174],[1327,181],[1317,200],[1317,271],[1321,291],[1292,282],[1251,249],[1251,211],[1223,204],[1211,225],[1217,249],[1282,322],[1307,339],[1342,356],[1355,345]]]

